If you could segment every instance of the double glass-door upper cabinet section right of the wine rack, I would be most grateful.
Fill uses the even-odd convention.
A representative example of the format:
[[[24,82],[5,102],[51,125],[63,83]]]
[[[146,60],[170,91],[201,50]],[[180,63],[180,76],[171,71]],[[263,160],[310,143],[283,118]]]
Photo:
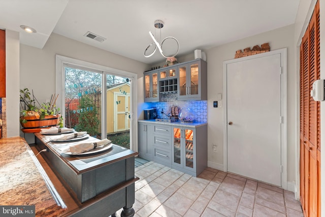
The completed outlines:
[[[207,100],[207,62],[202,59],[178,65],[178,100]]]

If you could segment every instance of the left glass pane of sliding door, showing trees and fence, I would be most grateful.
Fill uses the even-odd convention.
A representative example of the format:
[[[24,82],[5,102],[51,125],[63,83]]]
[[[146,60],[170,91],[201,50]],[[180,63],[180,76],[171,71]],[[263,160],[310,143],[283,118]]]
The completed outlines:
[[[66,127],[101,139],[102,74],[65,68]]]

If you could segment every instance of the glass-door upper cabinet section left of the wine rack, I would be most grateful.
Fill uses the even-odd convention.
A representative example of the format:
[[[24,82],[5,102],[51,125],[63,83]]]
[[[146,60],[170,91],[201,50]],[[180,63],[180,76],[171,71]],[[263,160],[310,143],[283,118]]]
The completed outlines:
[[[144,102],[158,102],[158,70],[144,73]]]

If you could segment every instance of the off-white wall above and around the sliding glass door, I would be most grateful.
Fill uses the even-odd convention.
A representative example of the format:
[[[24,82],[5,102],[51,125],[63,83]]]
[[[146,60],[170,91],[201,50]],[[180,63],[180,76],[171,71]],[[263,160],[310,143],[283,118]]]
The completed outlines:
[[[149,69],[147,64],[57,34],[50,36],[43,49],[20,45],[20,89],[33,89],[39,102],[46,102],[55,93],[55,54],[138,74],[138,107],[143,103],[143,72]],[[138,109],[138,117],[140,114]],[[27,142],[28,137],[25,135]]]

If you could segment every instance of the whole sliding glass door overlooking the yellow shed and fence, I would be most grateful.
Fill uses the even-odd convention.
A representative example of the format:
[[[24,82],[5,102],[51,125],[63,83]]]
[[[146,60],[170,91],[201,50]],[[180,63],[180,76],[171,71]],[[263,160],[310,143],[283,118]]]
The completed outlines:
[[[66,127],[130,148],[131,79],[70,65],[64,77]]]

